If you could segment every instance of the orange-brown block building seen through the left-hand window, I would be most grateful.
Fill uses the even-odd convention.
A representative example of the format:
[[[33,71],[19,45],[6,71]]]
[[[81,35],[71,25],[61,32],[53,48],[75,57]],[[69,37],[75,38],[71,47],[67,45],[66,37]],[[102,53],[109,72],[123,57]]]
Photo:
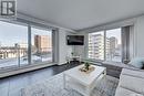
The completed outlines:
[[[34,46],[37,52],[50,52],[52,44],[49,35],[34,35]]]

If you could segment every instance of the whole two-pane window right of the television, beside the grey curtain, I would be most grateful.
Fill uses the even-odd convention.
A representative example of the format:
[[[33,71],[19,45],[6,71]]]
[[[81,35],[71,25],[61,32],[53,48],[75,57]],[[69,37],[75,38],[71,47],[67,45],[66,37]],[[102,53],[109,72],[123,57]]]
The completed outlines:
[[[89,33],[89,58],[122,61],[121,28]]]

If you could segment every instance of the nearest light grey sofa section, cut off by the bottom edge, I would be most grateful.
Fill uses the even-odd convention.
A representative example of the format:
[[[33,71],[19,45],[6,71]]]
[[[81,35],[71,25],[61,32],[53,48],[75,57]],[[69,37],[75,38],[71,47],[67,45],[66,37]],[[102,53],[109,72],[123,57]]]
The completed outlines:
[[[143,96],[143,95],[123,87],[117,87],[115,96]]]

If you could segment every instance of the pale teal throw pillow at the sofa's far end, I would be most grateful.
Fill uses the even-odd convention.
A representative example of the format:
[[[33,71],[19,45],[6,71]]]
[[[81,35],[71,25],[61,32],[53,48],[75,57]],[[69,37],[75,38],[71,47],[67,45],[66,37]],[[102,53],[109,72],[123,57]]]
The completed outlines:
[[[142,68],[144,65],[144,57],[135,57],[128,64],[131,64],[137,68]]]

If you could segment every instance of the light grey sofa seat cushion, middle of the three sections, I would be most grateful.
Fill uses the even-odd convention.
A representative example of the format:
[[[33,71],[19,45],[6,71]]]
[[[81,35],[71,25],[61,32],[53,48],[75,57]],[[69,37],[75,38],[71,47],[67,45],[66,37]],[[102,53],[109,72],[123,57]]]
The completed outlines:
[[[119,86],[144,94],[144,78],[121,75]]]

